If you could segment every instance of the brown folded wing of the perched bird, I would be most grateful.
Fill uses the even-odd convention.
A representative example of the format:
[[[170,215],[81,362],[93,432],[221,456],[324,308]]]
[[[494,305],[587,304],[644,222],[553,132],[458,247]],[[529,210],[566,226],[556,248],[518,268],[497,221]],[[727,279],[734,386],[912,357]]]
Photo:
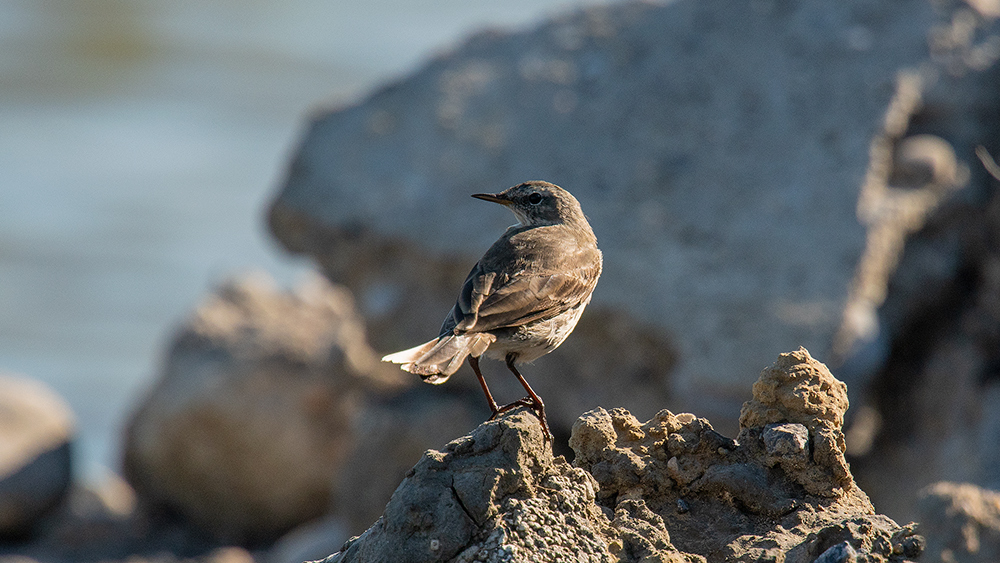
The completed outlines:
[[[470,274],[462,295],[464,297],[465,290],[469,289],[471,298],[467,303],[478,301],[479,306],[470,314],[463,315],[461,320],[456,319],[456,330],[487,332],[552,318],[587,299],[600,274],[599,261],[570,271],[522,273],[509,280],[499,280],[500,284],[495,283],[495,277],[488,283],[477,283]],[[479,288],[486,289],[486,292],[480,293],[477,291]],[[463,299],[460,298],[456,309],[462,304]]]

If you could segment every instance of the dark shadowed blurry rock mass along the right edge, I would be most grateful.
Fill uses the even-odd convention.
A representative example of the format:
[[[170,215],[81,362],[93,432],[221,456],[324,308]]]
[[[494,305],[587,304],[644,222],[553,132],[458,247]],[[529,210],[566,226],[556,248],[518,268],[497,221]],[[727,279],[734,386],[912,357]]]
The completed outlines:
[[[916,491],[938,481],[1000,489],[1000,196],[977,156],[1000,155],[1000,114],[987,109],[1000,107],[1000,21],[993,0],[955,5],[929,35],[936,77],[910,79],[906,119],[887,116],[897,141],[873,145],[894,154],[885,185],[872,184],[890,197],[859,205],[871,226],[852,303],[871,330],[837,369],[852,390],[854,474],[898,520],[918,518]],[[956,177],[966,187],[952,193]],[[909,187],[930,178],[945,189]],[[942,196],[926,216],[904,205]]]

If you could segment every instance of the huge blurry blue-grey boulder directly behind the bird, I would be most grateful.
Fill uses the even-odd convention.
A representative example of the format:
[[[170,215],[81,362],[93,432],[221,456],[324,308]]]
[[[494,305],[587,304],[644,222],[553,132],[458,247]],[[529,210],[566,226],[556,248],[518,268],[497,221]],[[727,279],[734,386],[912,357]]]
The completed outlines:
[[[585,381],[569,400],[645,409],[651,397],[735,431],[747,374],[779,351],[857,353],[877,328],[873,309],[902,241],[960,185],[957,174],[954,185],[909,186],[905,198],[877,189],[921,96],[956,117],[938,133],[952,152],[988,138],[975,129],[975,108],[994,107],[980,103],[995,90],[985,78],[947,107],[936,94],[955,83],[961,49],[948,43],[958,32],[935,39],[954,48],[932,50],[927,37],[962,13],[938,6],[630,2],[479,34],[318,117],[271,229],[359,296],[375,346],[388,352],[435,334],[468,269],[509,224],[469,194],[560,184],[581,201],[605,255],[584,320],[625,320],[603,345],[581,322],[566,346],[586,345],[546,356],[538,371],[565,373],[548,378],[565,388],[615,357],[617,385]],[[988,60],[988,42],[973,47],[967,59]],[[900,162],[923,162],[921,150],[901,146]],[[969,158],[958,155],[954,170]],[[933,162],[942,166],[901,169],[912,168],[907,181],[920,170],[947,176],[950,164]],[[869,213],[889,208],[899,212]],[[662,357],[616,353],[639,339]],[[540,392],[550,420],[568,426],[579,410]]]

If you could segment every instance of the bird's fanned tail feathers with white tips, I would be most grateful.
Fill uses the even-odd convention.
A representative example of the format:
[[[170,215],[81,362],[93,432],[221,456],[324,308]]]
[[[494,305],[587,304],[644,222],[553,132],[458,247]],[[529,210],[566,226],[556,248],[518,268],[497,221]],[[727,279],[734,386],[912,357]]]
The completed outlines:
[[[419,375],[427,383],[440,385],[462,367],[466,356],[482,356],[494,340],[495,336],[485,332],[446,334],[420,346],[389,354],[382,361],[401,364],[403,370]]]

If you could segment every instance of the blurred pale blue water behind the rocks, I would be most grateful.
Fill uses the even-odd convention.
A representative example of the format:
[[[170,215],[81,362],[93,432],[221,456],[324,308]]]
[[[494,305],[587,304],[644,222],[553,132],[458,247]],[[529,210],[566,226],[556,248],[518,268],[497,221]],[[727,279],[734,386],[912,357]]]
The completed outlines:
[[[78,475],[117,467],[124,418],[211,286],[309,267],[262,214],[311,112],[582,3],[0,2],[0,371],[67,398]]]

